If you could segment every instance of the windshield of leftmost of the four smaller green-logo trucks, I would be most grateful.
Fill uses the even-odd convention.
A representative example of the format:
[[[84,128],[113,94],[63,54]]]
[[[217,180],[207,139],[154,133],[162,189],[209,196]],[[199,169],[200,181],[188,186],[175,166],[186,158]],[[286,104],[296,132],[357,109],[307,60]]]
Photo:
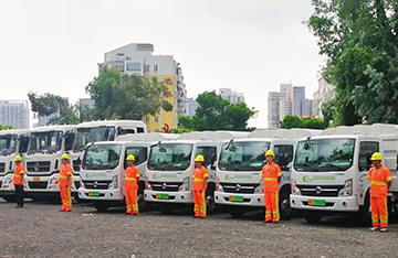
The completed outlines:
[[[119,163],[121,144],[93,144],[83,155],[82,168],[84,170],[115,169]]]

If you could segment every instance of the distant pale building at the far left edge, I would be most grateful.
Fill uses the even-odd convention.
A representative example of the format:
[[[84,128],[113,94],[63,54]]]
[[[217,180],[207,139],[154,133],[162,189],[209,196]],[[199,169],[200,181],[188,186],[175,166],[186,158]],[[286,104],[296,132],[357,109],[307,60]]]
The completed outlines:
[[[0,100],[0,125],[29,129],[28,100]]]

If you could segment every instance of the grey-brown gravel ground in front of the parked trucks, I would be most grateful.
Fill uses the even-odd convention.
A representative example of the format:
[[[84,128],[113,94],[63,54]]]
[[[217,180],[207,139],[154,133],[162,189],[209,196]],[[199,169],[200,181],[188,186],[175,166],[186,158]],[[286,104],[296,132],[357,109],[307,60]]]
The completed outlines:
[[[397,257],[398,225],[370,233],[349,217],[328,217],[314,226],[304,218],[264,224],[261,213],[241,219],[219,212],[206,219],[189,209],[138,216],[123,208],[98,213],[90,204],[0,201],[0,257]]]

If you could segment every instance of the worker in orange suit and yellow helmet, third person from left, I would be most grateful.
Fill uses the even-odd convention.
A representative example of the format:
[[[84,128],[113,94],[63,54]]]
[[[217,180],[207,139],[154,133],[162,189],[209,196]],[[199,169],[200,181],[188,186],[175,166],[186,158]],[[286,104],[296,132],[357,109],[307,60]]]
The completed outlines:
[[[139,170],[134,165],[135,157],[127,155],[127,169],[125,173],[125,197],[127,214],[138,215],[138,203],[137,203],[137,192],[139,180]]]

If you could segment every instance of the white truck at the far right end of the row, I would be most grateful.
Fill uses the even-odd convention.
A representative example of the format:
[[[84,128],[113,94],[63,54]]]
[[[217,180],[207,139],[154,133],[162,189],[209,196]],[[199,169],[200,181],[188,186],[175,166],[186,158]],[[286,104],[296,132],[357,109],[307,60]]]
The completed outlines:
[[[297,141],[292,169],[291,205],[303,211],[310,223],[329,213],[357,213],[370,222],[369,186],[366,179],[370,157],[380,152],[391,171],[388,191],[390,213],[397,211],[398,126],[357,125],[329,128],[322,136]]]

